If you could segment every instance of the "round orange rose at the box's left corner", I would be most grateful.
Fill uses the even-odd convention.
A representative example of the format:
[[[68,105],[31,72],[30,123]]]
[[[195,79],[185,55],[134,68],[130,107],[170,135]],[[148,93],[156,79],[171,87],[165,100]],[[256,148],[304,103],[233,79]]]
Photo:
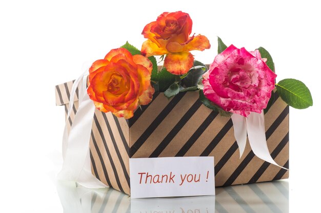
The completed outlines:
[[[99,111],[130,119],[138,105],[149,104],[153,98],[152,68],[142,55],[132,56],[124,48],[111,50],[91,65],[87,93]]]

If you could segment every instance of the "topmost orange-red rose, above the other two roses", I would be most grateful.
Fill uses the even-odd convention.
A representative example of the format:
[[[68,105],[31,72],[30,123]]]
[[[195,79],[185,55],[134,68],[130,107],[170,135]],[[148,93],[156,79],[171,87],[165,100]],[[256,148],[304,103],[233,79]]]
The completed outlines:
[[[192,19],[189,14],[164,12],[156,21],[145,26],[143,35],[148,38],[142,45],[142,55],[146,57],[167,54],[164,66],[175,75],[188,72],[193,66],[192,50],[204,51],[210,48],[209,40],[203,35],[189,37]]]

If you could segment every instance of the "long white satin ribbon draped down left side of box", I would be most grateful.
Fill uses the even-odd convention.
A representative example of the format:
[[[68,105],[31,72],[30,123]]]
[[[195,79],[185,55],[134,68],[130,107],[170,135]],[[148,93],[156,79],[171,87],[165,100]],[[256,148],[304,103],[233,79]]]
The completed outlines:
[[[89,141],[95,106],[87,94],[87,77],[88,69],[72,85],[63,135],[64,164],[57,178],[75,181],[87,188],[102,188],[108,186],[91,173]],[[67,122],[73,107],[77,87],[79,105],[68,134]]]

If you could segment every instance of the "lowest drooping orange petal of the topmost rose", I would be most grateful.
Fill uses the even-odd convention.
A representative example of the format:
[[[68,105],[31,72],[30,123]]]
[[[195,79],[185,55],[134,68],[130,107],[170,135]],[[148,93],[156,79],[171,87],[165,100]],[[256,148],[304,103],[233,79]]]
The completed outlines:
[[[169,53],[164,60],[168,72],[183,75],[193,66],[194,57],[189,52]]]

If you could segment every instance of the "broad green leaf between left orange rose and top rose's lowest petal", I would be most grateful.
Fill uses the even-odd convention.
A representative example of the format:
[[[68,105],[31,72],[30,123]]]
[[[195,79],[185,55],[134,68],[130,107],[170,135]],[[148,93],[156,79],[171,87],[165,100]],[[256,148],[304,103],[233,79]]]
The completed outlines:
[[[156,82],[156,84],[153,84],[155,92],[164,92],[176,81],[176,75],[169,73],[164,67],[156,74],[153,81]]]

